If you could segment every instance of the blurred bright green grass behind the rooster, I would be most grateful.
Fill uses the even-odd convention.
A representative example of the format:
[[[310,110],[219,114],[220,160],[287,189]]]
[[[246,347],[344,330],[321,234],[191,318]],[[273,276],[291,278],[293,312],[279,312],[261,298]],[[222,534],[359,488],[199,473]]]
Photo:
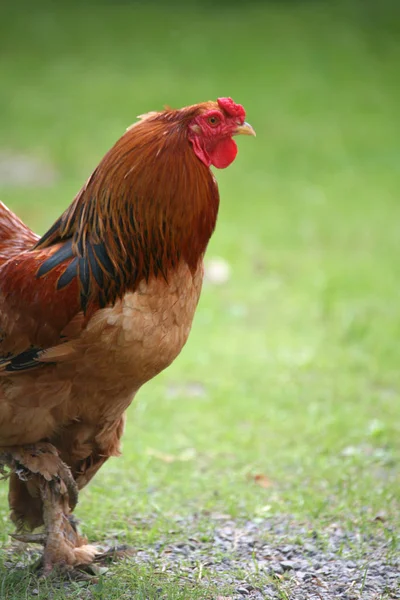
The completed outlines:
[[[59,177],[0,182],[0,196],[37,231],[137,114],[231,95],[258,136],[217,173],[208,257],[232,277],[205,285],[181,356],[129,410],[122,458],[81,494],[91,539],[146,546],[176,516],[200,513],[206,529],[207,511],[398,530],[400,20],[377,4],[2,8],[0,153]],[[188,394],[193,382],[204,393]],[[205,597],[151,565],[118,573],[95,598]],[[25,598],[26,583],[4,575],[4,597]]]

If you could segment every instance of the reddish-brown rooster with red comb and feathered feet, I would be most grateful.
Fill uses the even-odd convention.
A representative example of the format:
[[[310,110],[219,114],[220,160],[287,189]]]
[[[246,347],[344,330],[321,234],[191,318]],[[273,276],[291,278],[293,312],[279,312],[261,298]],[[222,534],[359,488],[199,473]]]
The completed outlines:
[[[43,568],[89,564],[72,511],[126,409],[185,344],[214,231],[210,170],[255,135],[231,98],[139,117],[41,238],[0,206],[0,469]],[[44,532],[27,533],[44,525]]]

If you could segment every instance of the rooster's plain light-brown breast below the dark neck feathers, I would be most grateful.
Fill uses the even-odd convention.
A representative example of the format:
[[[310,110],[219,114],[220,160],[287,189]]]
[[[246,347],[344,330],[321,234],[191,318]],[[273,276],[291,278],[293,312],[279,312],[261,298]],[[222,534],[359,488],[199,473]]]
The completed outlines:
[[[170,365],[188,338],[202,278],[202,263],[195,273],[181,263],[167,281],[142,281],[135,292],[98,311],[79,341],[80,385],[97,374],[129,393]]]

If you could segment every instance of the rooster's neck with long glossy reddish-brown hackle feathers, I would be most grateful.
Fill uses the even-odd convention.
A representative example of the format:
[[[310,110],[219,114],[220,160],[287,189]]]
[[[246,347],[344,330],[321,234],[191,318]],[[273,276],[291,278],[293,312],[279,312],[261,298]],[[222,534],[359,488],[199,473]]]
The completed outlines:
[[[78,277],[84,310],[92,300],[114,303],[143,279],[168,281],[181,261],[194,272],[215,228],[216,181],[182,131],[140,135],[140,126],[108,152],[37,244],[69,245],[75,267],[60,280]]]

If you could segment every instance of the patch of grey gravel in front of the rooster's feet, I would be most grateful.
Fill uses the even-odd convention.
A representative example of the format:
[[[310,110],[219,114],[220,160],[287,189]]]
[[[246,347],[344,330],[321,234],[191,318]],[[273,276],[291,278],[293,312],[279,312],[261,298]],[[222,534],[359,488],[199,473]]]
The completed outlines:
[[[220,518],[206,535],[177,537],[139,550],[133,560],[205,588],[232,586],[229,596],[214,596],[220,600],[400,599],[400,546],[382,532],[362,535],[332,525],[321,534],[288,520],[239,525]]]

